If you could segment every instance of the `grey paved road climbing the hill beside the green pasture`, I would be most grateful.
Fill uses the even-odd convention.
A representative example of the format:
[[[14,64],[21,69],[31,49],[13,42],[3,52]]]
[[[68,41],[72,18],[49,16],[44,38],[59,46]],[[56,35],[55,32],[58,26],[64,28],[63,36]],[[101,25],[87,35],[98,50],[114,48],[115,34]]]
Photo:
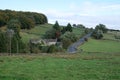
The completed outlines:
[[[72,45],[70,45],[68,47],[67,51],[69,53],[76,53],[77,47],[80,46],[80,45],[82,45],[85,42],[84,38],[89,38],[91,36],[91,34],[92,33],[89,33],[89,34],[85,35],[84,37],[80,38],[77,42],[75,42]]]

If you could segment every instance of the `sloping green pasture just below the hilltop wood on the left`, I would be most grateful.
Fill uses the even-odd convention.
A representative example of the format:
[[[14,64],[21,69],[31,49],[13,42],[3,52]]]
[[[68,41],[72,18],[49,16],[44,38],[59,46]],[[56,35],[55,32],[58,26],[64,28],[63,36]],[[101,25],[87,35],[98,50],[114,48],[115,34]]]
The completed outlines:
[[[24,43],[28,43],[30,39],[41,38],[45,32],[52,28],[52,24],[44,24],[35,26],[31,30],[21,30],[21,37]]]

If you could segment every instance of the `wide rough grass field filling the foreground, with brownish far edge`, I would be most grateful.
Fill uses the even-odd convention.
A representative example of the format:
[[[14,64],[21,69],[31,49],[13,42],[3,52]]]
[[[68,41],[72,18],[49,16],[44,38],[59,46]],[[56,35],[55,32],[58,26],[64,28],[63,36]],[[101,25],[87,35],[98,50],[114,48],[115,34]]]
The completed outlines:
[[[0,56],[0,80],[120,80],[120,54]]]

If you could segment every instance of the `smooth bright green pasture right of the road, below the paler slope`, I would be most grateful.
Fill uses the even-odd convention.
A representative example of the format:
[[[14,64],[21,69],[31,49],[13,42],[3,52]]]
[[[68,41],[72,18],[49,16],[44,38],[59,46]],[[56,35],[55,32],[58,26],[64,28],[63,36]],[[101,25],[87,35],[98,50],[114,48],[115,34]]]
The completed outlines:
[[[79,49],[86,52],[120,53],[120,41],[89,39]]]

